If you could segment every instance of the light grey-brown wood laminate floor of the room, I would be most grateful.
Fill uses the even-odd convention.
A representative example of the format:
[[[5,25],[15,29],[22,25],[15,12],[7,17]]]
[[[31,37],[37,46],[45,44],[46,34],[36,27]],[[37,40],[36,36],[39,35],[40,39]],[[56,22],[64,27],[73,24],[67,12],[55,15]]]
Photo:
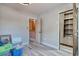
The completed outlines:
[[[72,56],[71,52],[57,50],[34,42],[30,43],[27,53],[28,56]],[[27,54],[25,53],[24,55]]]

